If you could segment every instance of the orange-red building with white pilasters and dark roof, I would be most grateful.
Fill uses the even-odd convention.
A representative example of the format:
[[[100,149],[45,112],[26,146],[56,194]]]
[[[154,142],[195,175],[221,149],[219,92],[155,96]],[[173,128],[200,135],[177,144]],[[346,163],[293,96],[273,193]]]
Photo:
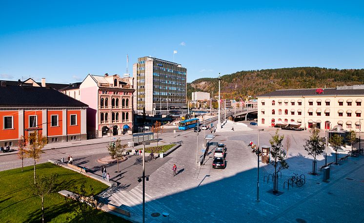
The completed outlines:
[[[0,146],[40,132],[48,143],[86,139],[87,105],[55,89],[22,82],[0,86]]]

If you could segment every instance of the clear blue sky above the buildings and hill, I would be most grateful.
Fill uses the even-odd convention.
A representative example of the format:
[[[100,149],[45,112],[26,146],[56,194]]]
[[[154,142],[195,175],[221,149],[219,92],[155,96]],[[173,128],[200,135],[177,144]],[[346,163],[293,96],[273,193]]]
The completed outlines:
[[[0,79],[73,83],[141,56],[187,81],[243,70],[364,68],[364,1],[0,0]]]

